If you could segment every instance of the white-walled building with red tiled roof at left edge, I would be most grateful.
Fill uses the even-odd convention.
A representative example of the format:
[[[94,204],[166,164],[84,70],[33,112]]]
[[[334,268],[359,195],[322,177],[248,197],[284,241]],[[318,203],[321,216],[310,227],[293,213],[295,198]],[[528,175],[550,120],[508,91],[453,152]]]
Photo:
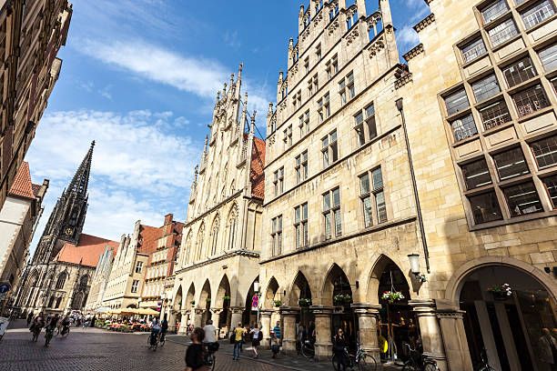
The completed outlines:
[[[8,306],[15,304],[29,244],[43,214],[42,203],[48,184],[47,179],[42,185],[33,184],[29,164],[24,161],[0,211],[0,282],[11,286],[5,298]]]

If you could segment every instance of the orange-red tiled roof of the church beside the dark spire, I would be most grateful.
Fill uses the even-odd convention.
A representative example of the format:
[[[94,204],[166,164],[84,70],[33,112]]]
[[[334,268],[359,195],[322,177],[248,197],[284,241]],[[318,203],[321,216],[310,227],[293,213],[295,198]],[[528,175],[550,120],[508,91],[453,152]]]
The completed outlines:
[[[116,241],[110,241],[106,238],[81,234],[77,246],[66,243],[55,256],[55,261],[79,264],[82,266],[96,267],[98,258],[105,252],[106,245],[108,248],[114,248],[114,254],[118,248]]]

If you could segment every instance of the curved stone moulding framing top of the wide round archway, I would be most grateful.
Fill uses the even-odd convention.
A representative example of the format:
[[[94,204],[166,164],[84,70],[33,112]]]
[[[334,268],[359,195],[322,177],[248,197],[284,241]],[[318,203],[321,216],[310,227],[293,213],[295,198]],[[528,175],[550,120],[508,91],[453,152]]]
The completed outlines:
[[[549,278],[547,274],[543,273],[542,270],[535,266],[508,256],[482,256],[460,266],[452,274],[451,279],[449,279],[449,283],[445,289],[445,299],[453,303],[458,303],[461,295],[461,288],[464,285],[466,277],[476,269],[485,266],[509,266],[522,271],[538,281],[538,283],[547,290],[549,295],[552,296],[553,300],[557,300],[557,283],[554,279]]]

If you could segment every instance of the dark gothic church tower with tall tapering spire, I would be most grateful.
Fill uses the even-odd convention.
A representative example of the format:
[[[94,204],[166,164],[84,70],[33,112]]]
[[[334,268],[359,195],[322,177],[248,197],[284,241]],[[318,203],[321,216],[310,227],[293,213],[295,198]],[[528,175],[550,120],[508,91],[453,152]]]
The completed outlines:
[[[43,236],[37,246],[33,264],[46,264],[60,251],[66,242],[77,245],[85,224],[87,211],[87,186],[95,141],[77,168],[69,186],[58,199]]]

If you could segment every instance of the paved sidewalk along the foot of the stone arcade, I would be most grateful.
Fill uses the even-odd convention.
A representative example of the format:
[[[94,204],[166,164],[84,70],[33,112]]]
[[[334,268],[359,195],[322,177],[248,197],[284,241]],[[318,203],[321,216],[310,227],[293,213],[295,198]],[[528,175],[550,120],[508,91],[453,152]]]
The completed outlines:
[[[188,346],[189,344],[191,344],[189,336],[169,335],[167,336],[167,340],[177,344],[182,344],[184,346]],[[232,351],[234,349],[234,346],[229,344],[228,340],[220,340],[219,343],[220,348],[217,355],[217,364],[218,359],[222,358],[223,356],[228,356],[231,359]],[[280,366],[297,371],[332,370],[332,365],[329,362],[318,363],[303,356],[286,356],[284,354],[279,354],[279,358],[273,359],[271,357],[271,351],[268,349],[259,349],[258,353],[258,358],[254,359],[251,344],[244,344],[240,359],[249,359],[259,363]],[[377,371],[400,371],[400,368],[401,367],[399,366],[378,366]]]

